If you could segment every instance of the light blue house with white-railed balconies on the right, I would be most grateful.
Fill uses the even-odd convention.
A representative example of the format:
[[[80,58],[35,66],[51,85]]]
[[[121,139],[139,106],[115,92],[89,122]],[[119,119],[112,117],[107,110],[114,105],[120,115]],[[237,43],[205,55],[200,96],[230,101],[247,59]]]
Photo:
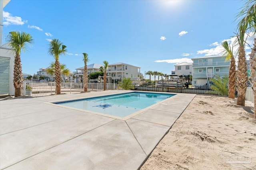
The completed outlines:
[[[225,61],[226,57],[200,57],[194,58],[192,85],[210,87],[211,79],[214,75],[221,77],[228,76],[230,61]]]

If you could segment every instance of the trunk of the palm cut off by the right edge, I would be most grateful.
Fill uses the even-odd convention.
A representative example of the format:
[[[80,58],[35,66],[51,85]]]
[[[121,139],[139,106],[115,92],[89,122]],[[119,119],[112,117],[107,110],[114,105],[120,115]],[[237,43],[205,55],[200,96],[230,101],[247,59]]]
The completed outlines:
[[[256,38],[254,38],[254,44],[250,54],[250,71],[252,79],[252,90],[254,93],[254,119],[256,119]]]

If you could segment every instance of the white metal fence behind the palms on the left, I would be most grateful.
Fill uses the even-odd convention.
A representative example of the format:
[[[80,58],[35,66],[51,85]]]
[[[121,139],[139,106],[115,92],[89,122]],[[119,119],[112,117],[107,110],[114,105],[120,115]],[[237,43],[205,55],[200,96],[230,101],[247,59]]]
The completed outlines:
[[[55,82],[23,82],[22,94],[32,97],[50,96],[55,94]],[[106,90],[114,90],[118,84],[106,83]],[[88,83],[88,91],[104,90],[104,83]],[[83,83],[61,83],[61,94],[75,94],[84,91]]]

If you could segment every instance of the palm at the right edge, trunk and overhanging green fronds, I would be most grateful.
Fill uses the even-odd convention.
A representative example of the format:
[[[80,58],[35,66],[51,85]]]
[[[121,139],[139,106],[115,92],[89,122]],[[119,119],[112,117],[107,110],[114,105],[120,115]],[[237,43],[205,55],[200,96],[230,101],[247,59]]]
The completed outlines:
[[[237,18],[241,18],[238,23],[238,27],[246,25],[248,31],[253,35],[256,34],[256,0],[248,0],[241,12],[238,13]],[[250,79],[252,90],[254,92],[254,118],[256,119],[256,39],[254,38],[254,44],[250,56]]]

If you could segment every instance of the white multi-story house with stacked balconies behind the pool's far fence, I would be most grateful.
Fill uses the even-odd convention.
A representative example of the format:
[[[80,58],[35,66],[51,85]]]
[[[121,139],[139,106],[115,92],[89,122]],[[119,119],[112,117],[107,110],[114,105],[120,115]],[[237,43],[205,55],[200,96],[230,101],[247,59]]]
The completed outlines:
[[[140,67],[126,63],[114,63],[108,65],[107,75],[110,76],[112,83],[122,81],[122,78],[131,78],[133,84],[140,83]],[[143,78],[143,77],[142,77]]]

